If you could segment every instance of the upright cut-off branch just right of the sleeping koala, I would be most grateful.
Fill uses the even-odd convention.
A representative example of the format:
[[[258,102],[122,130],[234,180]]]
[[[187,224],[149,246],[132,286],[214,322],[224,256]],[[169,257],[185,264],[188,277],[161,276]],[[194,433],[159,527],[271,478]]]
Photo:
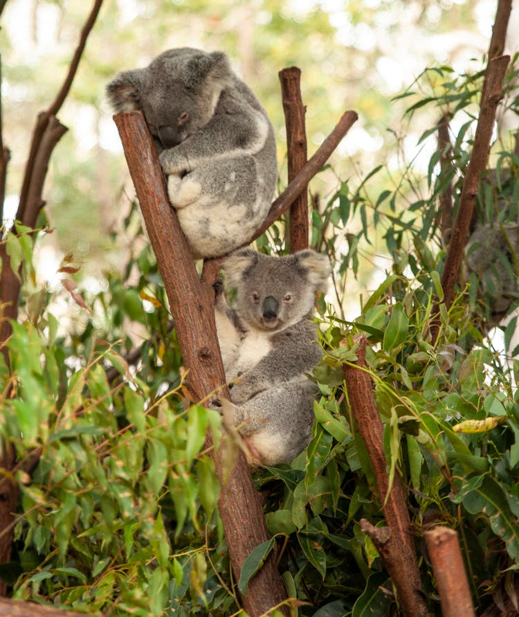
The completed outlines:
[[[307,162],[307,133],[304,123],[306,108],[302,104],[301,70],[297,66],[279,73],[286,126],[286,145],[291,182]],[[291,253],[307,249],[308,238],[308,192],[303,190],[290,206],[289,249]]]

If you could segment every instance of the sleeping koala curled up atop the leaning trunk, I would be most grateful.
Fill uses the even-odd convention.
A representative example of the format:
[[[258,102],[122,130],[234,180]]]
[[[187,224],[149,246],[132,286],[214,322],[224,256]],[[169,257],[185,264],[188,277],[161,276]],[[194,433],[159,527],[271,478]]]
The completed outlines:
[[[270,120],[220,51],[181,47],[107,85],[113,109],[143,111],[194,258],[248,244],[277,180]]]

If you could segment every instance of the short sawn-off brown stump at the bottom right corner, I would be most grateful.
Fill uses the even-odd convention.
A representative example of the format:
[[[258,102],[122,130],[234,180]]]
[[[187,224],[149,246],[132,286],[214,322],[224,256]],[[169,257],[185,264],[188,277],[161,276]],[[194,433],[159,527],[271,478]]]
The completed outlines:
[[[457,533],[438,526],[424,532],[443,617],[474,617],[471,590]]]

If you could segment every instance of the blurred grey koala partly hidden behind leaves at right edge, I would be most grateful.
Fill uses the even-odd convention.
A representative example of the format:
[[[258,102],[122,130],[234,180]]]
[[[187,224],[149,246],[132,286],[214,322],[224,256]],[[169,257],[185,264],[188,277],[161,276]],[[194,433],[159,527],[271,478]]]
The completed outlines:
[[[468,238],[466,266],[493,314],[507,312],[519,298],[518,258],[518,224],[484,224]]]

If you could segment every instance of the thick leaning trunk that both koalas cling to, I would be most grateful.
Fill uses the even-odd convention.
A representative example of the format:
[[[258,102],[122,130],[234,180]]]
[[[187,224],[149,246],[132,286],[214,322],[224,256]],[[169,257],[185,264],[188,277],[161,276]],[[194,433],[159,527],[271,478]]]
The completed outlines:
[[[225,377],[215,328],[214,290],[199,280],[176,212],[170,206],[165,177],[143,115],[140,111],[124,112],[114,120],[170,301],[183,362],[189,370],[188,387],[197,400],[210,406],[213,397],[228,395],[221,386]],[[218,456],[213,460],[221,477]],[[241,454],[228,482],[221,487],[219,509],[233,572],[239,575],[246,557],[268,539],[260,496]],[[249,582],[244,608],[251,617],[258,617],[284,600],[286,592],[271,555]]]

